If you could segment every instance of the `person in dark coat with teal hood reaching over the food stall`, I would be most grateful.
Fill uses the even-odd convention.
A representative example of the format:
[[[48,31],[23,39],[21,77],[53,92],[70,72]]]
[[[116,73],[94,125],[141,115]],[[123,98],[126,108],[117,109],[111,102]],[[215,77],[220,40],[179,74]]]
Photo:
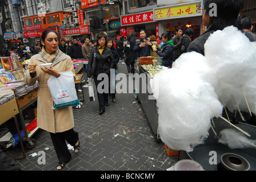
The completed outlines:
[[[162,42],[164,42],[162,50],[153,49],[153,51],[163,57],[163,66],[171,68],[173,64],[173,40],[171,40],[171,35],[168,32],[162,35]]]

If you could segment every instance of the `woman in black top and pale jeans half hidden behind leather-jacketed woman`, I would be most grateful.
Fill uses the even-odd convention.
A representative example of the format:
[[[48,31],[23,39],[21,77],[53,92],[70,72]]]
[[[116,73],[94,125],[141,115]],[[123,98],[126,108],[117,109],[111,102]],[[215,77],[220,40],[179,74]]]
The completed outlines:
[[[117,103],[117,100],[115,99],[115,86],[117,85],[117,73],[118,73],[118,62],[119,62],[119,54],[117,52],[117,49],[114,48],[114,43],[113,43],[113,39],[111,38],[107,38],[107,47],[110,48],[113,57],[114,57],[114,72],[110,72],[110,73],[114,73],[113,75],[110,75],[110,89],[109,89],[109,96],[110,99],[112,99],[112,102]],[[111,92],[113,90],[113,93]]]

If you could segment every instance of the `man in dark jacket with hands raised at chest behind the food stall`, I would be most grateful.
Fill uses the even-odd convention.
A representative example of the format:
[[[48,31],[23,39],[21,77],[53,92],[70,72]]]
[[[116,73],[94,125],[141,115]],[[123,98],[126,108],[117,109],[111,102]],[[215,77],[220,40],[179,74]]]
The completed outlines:
[[[139,57],[150,56],[150,49],[152,49],[152,43],[150,42],[150,40],[147,40],[145,30],[139,31],[139,38],[139,41],[135,43],[133,51],[138,52]]]

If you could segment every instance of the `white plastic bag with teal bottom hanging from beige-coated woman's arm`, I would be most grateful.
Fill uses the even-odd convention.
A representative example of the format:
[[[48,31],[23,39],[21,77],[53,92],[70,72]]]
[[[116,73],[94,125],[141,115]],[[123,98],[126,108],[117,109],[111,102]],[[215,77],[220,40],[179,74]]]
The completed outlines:
[[[51,97],[54,101],[53,109],[79,105],[73,73],[69,71],[60,72],[60,74],[61,76],[58,78],[51,76],[47,81]]]

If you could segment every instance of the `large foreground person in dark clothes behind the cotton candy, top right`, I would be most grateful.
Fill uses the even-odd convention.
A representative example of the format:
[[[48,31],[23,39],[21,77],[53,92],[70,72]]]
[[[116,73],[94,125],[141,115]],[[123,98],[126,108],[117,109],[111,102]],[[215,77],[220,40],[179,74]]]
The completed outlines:
[[[215,3],[218,16],[209,15],[212,11],[211,3]],[[225,27],[233,26],[239,13],[243,8],[243,0],[206,0],[205,12],[203,13],[203,25],[207,30],[197,39],[193,40],[187,48],[187,52],[198,52],[205,55],[205,42],[213,32],[223,30]]]

